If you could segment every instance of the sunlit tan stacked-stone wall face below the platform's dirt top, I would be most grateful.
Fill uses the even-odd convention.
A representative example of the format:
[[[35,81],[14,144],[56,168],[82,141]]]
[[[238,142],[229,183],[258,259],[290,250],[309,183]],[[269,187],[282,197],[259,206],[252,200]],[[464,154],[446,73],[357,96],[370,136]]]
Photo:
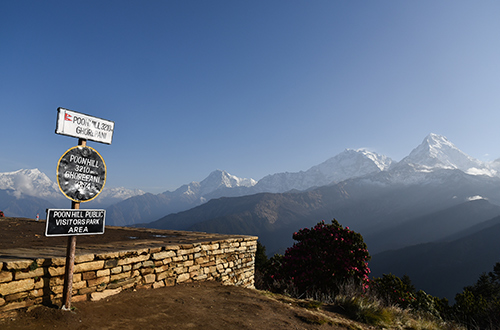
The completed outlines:
[[[253,287],[257,237],[136,248],[77,251],[72,302],[100,300],[130,288],[192,281]],[[0,260],[0,317],[33,305],[60,305],[65,257]]]

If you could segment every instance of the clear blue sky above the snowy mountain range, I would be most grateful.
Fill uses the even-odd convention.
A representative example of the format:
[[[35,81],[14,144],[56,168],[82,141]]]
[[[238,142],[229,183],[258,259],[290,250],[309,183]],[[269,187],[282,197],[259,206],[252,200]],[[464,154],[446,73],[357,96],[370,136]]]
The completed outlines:
[[[55,180],[58,107],[115,122],[107,185],[261,179],[433,132],[500,157],[498,1],[1,1],[0,172]]]

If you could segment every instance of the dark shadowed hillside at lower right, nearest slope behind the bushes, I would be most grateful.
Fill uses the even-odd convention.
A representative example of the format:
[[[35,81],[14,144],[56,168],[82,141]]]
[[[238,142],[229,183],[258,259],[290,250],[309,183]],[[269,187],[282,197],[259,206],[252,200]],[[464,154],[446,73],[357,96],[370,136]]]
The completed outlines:
[[[408,275],[427,293],[454,299],[465,286],[473,285],[483,272],[500,262],[500,217],[497,223],[452,242],[419,244],[372,256],[372,276]]]

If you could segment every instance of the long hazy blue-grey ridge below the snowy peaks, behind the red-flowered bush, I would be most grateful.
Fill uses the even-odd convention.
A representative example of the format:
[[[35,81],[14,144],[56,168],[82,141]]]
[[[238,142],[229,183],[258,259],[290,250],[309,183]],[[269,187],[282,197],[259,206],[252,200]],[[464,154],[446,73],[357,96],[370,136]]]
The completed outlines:
[[[467,201],[471,193],[480,192],[485,196],[500,198],[500,191],[495,190],[500,185],[499,179],[471,176],[460,170],[426,173],[425,180],[414,184],[391,184],[390,175],[385,173],[376,178],[365,176],[306,192],[214,199],[191,210],[170,214],[142,225],[160,229],[257,235],[267,246],[267,251],[274,253],[293,244],[291,236],[298,229],[336,218],[344,226],[370,237],[369,248],[373,244],[389,249],[398,247],[400,243],[397,239],[391,242],[392,238],[385,233],[397,226],[403,226],[400,230],[404,232],[403,224],[407,221],[458,206]],[[442,184],[443,181],[447,184]],[[495,209],[498,209],[496,206],[477,202],[470,204],[471,212],[477,205],[476,210],[483,208],[481,212],[486,215],[498,214],[495,213]],[[428,221],[432,223],[432,219]],[[462,227],[457,228],[468,226],[467,219],[464,221]],[[469,226],[476,223],[471,220]],[[453,226],[452,223],[450,225]],[[453,228],[447,231],[453,232]],[[425,237],[426,233],[430,238]],[[430,229],[422,230],[419,239],[425,242],[435,237]]]

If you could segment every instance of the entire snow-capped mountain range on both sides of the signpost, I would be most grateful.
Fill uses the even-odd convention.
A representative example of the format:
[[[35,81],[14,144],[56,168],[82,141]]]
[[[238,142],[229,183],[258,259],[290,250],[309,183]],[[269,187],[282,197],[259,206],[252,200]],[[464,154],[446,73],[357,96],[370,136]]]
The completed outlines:
[[[108,207],[108,223],[130,225],[150,222],[169,213],[185,211],[220,197],[260,192],[304,191],[356,178],[384,186],[442,184],[452,177],[454,180],[460,180],[460,173],[477,178],[498,178],[499,170],[500,160],[491,163],[480,162],[462,152],[446,137],[429,134],[399,163],[366,149],[346,149],[306,171],[276,173],[258,182],[216,170],[200,182],[193,181],[174,191],[157,195],[145,194],[140,190],[105,187],[86,207],[106,207],[113,204]],[[12,196],[25,194],[44,198],[57,207],[66,207],[68,202],[56,183],[37,169],[0,173],[0,189],[6,189]],[[478,193],[471,196],[476,194]]]

